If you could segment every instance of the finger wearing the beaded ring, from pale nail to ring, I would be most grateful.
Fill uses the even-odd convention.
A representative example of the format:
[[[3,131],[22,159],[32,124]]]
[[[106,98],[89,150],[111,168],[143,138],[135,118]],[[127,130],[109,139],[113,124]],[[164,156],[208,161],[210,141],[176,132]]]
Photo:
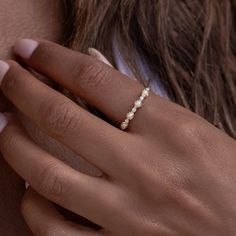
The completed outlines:
[[[111,120],[120,123],[143,86],[105,63],[48,41],[19,40],[14,51],[25,62],[57,81]]]

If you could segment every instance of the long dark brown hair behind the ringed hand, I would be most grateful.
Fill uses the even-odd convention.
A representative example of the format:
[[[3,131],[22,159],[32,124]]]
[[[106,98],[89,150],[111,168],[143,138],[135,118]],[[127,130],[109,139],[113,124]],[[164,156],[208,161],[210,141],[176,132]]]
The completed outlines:
[[[114,38],[134,75],[142,55],[170,99],[236,138],[235,0],[64,0],[65,44],[100,50]],[[115,65],[114,65],[115,66]],[[155,79],[155,78],[151,78]]]

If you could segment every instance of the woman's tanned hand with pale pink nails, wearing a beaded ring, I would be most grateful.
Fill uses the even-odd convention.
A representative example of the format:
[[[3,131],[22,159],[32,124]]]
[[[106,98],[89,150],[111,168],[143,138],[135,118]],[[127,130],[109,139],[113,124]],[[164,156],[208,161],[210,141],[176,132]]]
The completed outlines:
[[[78,107],[16,62],[4,64],[4,95],[46,134],[104,173],[98,178],[70,168],[33,143],[11,114],[4,128],[1,115],[0,149],[31,186],[22,213],[35,235],[236,234],[235,140],[153,93],[128,131],[121,131],[117,127],[143,89],[138,82],[47,41],[18,41],[15,52],[112,121]],[[102,230],[66,221],[52,202]]]

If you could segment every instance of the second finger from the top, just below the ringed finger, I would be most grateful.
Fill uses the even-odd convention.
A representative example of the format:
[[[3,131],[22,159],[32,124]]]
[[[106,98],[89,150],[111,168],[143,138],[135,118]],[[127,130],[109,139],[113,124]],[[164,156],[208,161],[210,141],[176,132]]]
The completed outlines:
[[[121,138],[124,132],[35,79],[16,62],[8,61],[6,65],[9,68],[1,82],[2,92],[46,134],[107,174],[123,167],[122,158],[114,153],[125,143]]]

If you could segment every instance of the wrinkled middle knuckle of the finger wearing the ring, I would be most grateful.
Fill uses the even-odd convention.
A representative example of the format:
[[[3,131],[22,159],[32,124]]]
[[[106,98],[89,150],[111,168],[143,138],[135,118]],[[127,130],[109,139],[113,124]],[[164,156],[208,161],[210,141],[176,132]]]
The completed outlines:
[[[90,59],[91,60],[91,59]],[[108,76],[108,70],[104,68],[104,64],[98,60],[91,60],[91,63],[84,63],[79,67],[75,67],[75,71],[79,70],[77,73],[80,75],[81,80],[79,80],[80,86],[84,85],[86,87],[99,88],[108,83],[110,76]],[[78,83],[76,76],[75,84]]]

